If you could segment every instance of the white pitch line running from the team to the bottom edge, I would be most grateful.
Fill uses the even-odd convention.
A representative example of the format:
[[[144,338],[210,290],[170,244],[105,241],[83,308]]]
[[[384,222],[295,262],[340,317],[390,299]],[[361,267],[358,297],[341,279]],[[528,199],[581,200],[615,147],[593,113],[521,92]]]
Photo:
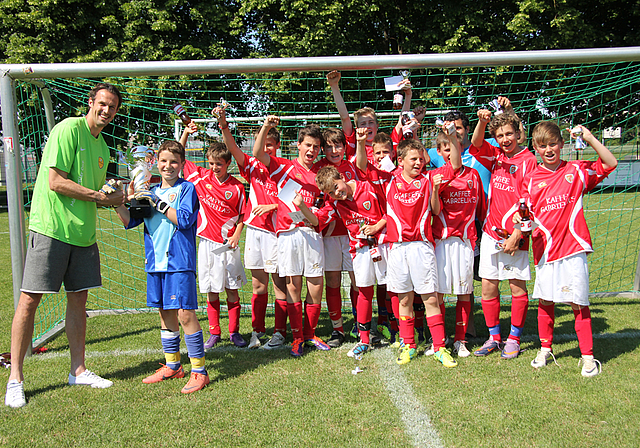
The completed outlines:
[[[378,361],[382,382],[389,392],[393,404],[400,411],[400,417],[413,446],[444,447],[440,436],[431,424],[427,410],[413,393],[413,387],[395,362],[392,350],[388,348],[377,349],[373,350],[371,355]]]

